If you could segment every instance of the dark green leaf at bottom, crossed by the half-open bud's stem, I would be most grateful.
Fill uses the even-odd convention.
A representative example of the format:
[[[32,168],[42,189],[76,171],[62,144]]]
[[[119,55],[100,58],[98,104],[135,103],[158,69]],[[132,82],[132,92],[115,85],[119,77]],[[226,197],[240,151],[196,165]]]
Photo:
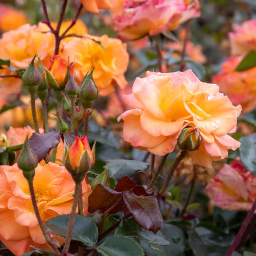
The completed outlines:
[[[69,214],[60,215],[46,222],[46,226],[53,234],[66,237],[68,230]],[[93,247],[98,239],[98,229],[91,218],[76,215],[73,226],[72,240],[80,241]]]

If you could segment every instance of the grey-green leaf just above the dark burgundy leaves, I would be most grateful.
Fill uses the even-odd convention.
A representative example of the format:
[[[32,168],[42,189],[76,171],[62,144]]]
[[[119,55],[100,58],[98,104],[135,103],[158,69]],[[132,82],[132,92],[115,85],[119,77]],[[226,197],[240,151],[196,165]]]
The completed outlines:
[[[107,160],[105,168],[109,168],[109,176],[119,180],[124,176],[133,176],[138,170],[146,170],[150,164],[135,160]]]

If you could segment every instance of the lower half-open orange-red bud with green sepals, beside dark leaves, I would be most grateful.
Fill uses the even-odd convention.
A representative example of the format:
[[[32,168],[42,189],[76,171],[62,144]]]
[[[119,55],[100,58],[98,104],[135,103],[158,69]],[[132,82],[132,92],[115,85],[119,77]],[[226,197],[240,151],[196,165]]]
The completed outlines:
[[[93,166],[94,160],[87,137],[76,137],[65,156],[65,166],[69,171],[87,172]]]

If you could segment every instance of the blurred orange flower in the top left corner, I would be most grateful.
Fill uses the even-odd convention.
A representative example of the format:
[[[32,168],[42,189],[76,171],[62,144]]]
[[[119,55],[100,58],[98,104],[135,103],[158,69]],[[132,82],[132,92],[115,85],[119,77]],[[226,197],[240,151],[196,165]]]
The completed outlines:
[[[0,30],[2,32],[15,30],[26,23],[27,17],[22,11],[0,4]]]

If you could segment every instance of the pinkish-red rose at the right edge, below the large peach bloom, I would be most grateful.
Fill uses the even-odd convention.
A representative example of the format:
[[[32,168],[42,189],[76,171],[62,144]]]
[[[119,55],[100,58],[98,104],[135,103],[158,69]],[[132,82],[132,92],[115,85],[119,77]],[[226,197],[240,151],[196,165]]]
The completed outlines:
[[[222,209],[250,210],[256,198],[256,177],[241,162],[225,164],[204,192]]]

